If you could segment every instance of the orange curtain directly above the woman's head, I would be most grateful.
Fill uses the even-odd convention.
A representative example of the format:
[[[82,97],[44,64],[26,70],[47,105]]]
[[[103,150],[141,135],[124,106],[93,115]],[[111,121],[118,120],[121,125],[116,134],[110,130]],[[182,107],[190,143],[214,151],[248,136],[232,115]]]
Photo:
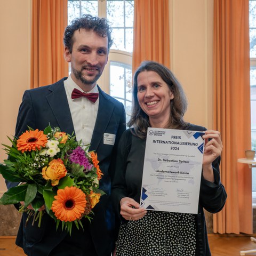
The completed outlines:
[[[170,68],[168,0],[134,0],[133,71],[143,60]]]

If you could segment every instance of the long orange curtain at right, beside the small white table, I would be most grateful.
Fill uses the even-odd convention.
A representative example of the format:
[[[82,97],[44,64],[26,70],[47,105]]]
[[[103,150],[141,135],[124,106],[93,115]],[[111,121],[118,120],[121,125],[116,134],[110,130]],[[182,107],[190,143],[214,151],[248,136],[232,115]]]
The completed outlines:
[[[214,1],[214,125],[221,132],[221,179],[228,199],[214,233],[252,233],[252,179],[237,163],[251,148],[249,1]]]

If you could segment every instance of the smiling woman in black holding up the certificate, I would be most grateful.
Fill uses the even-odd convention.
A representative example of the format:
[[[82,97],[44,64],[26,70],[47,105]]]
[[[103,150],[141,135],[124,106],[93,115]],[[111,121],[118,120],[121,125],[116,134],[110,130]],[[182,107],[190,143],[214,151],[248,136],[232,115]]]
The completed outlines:
[[[185,93],[171,71],[142,62],[134,75],[132,116],[119,141],[112,197],[121,219],[117,256],[211,255],[203,208],[219,212],[227,195],[220,182],[220,133],[186,123]],[[146,211],[140,208],[143,161],[148,127],[205,131],[205,148],[197,214]]]

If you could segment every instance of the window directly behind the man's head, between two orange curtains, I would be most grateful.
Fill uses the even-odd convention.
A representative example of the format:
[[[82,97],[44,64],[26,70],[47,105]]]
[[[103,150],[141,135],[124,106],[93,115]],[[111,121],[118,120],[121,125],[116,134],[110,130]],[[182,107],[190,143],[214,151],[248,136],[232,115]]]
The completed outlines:
[[[108,64],[98,83],[105,92],[124,104],[126,121],[129,121],[132,102],[134,0],[68,0],[68,23],[87,13],[106,17],[111,22],[114,43],[109,52]]]

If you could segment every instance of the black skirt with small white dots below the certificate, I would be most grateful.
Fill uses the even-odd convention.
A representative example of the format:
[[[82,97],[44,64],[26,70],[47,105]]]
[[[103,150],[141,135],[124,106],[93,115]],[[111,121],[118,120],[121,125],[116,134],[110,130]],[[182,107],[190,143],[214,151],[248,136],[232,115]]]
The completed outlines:
[[[195,215],[148,211],[121,224],[116,256],[193,256],[195,251]]]

